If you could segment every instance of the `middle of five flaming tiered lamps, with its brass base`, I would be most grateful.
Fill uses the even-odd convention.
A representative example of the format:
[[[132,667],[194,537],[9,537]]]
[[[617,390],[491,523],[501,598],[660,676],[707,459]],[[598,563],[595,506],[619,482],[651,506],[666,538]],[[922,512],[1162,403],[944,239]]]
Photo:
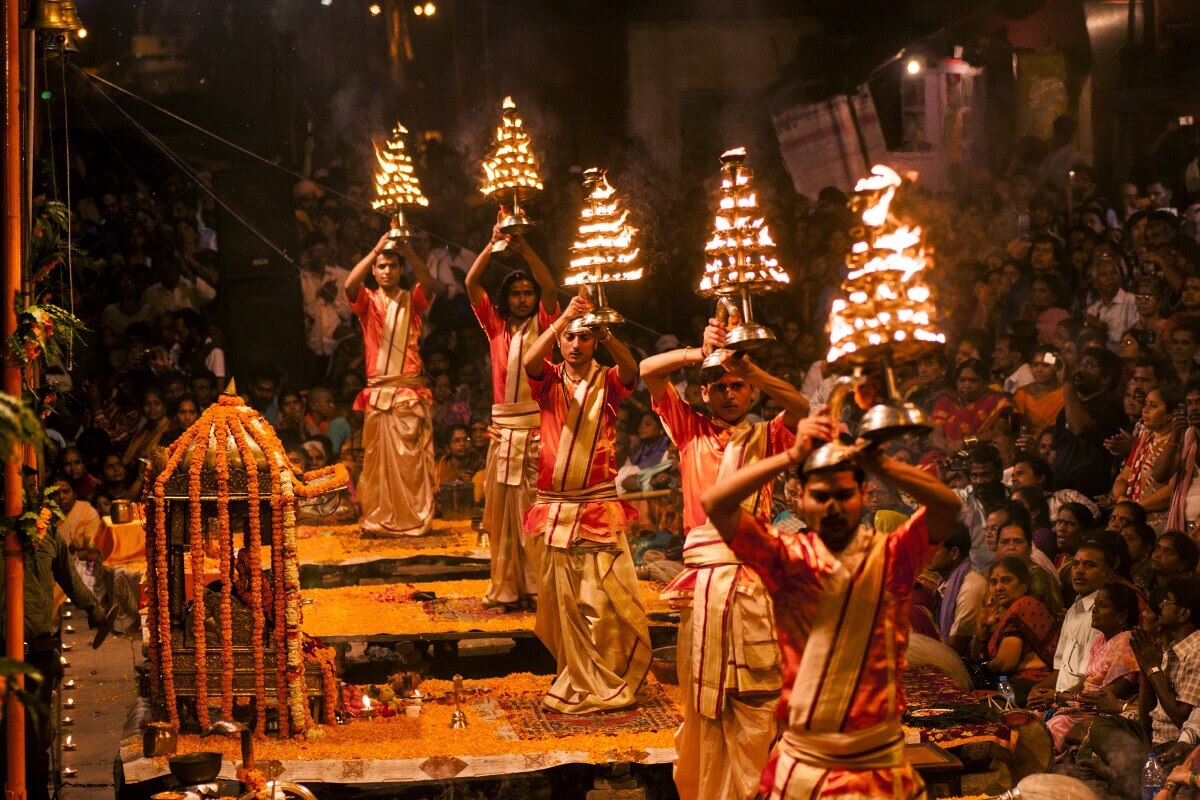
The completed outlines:
[[[593,309],[574,326],[598,327],[625,321],[605,300],[604,285],[620,281],[637,281],[644,272],[637,263],[637,234],[629,222],[629,210],[617,198],[605,170],[593,167],[583,173],[587,204],[580,212],[580,229],[571,245],[571,263],[563,285],[586,285],[594,291]]]

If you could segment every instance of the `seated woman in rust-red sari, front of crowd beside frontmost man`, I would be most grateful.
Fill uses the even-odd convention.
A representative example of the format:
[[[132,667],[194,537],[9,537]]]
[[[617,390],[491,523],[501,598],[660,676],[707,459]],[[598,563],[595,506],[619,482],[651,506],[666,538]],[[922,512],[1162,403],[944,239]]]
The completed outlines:
[[[1012,555],[1000,559],[988,575],[988,599],[979,612],[971,657],[983,668],[1007,675],[1025,704],[1030,688],[1050,674],[1058,645],[1058,622],[1030,594],[1030,571]]]

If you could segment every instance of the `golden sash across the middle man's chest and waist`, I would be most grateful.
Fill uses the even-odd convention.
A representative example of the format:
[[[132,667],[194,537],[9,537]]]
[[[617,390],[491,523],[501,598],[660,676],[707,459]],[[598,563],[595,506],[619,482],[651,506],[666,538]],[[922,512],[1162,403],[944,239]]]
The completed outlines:
[[[565,367],[563,369],[565,391]],[[575,542],[584,505],[617,499],[612,480],[588,486],[602,428],[607,374],[608,367],[593,362],[592,371],[568,396],[566,422],[558,437],[551,489],[538,493],[539,503],[551,505],[546,515],[546,543],[551,547],[566,548]]]

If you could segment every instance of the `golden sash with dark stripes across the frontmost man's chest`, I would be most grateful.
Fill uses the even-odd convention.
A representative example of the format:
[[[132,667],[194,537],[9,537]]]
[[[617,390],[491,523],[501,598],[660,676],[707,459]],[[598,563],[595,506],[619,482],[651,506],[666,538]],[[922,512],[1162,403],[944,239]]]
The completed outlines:
[[[858,688],[866,650],[875,634],[875,618],[883,602],[888,537],[868,528],[866,553],[853,567],[835,561],[826,578],[812,631],[800,656],[800,669],[788,703],[788,729],[828,733],[841,730]],[[832,558],[832,557],[830,557]],[[889,714],[895,712],[895,652],[890,620],[883,631],[888,645]]]

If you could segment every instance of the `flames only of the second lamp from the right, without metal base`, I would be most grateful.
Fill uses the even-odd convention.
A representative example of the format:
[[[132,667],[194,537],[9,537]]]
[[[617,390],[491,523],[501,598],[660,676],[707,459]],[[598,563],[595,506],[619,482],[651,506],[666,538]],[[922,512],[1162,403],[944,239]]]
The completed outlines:
[[[754,173],[745,166],[745,148],[721,154],[721,198],[713,235],[704,245],[707,258],[698,289],[702,295],[732,294],[748,284],[769,291],[791,282],[779,265],[767,221],[758,216]]]

